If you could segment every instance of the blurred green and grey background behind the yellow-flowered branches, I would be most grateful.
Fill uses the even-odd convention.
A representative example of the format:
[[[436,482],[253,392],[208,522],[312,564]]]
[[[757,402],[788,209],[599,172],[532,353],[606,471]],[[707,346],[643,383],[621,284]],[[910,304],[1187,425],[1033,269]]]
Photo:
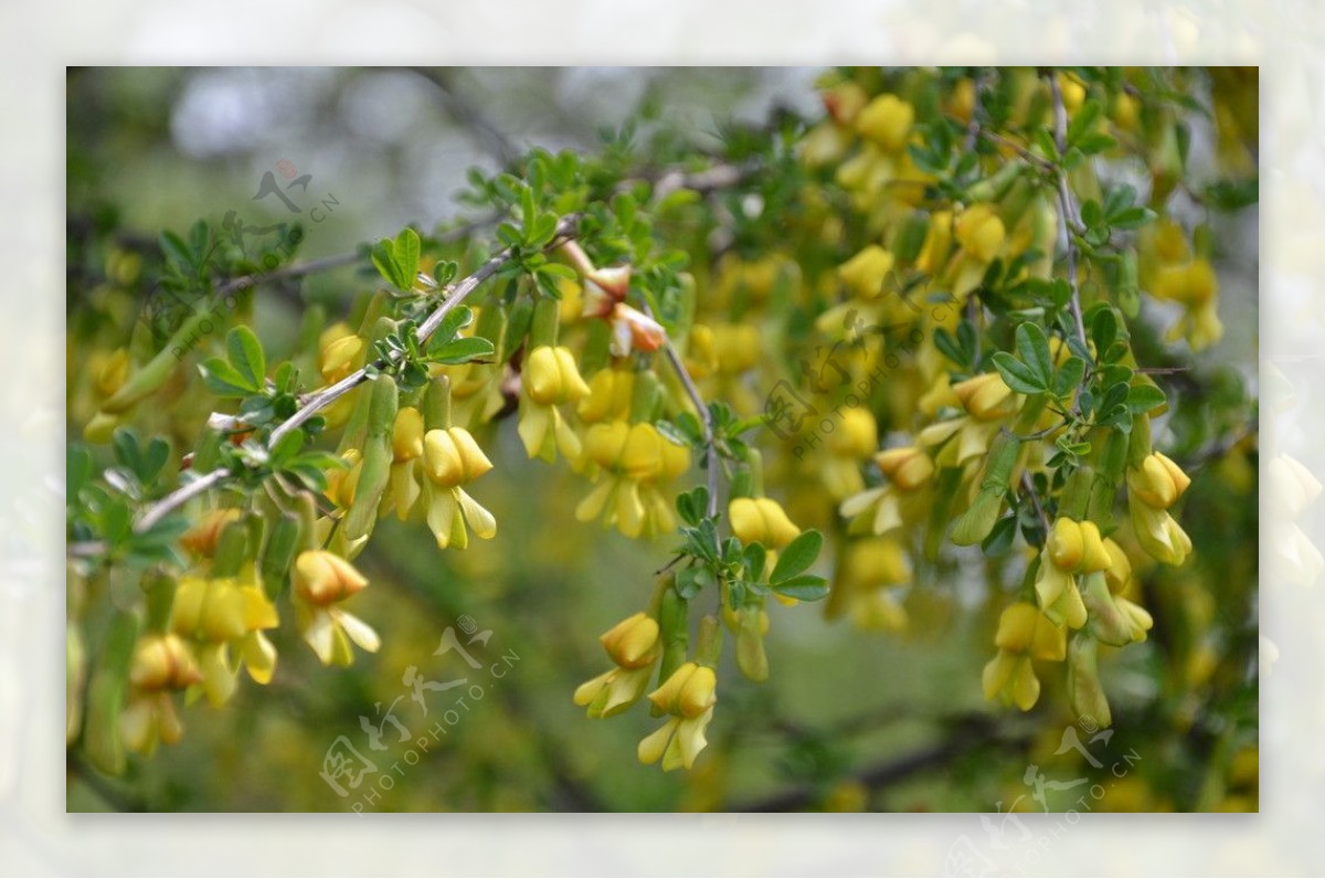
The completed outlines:
[[[600,127],[619,127],[643,107],[656,119],[648,125],[676,126],[701,147],[713,146],[733,118],[761,122],[775,109],[815,114],[815,74],[72,69],[70,240],[114,227],[148,247],[162,228],[183,231],[199,217],[220,221],[229,209],[270,221],[277,205],[256,205],[253,196],[262,174],[289,160],[313,175],[310,198],[337,200],[323,221],[306,223],[299,259],[339,255],[407,223],[432,228],[454,216],[465,170],[500,163],[485,126],[519,148],[591,150]],[[1216,227],[1216,239],[1227,243],[1220,308],[1228,334],[1202,358],[1202,369],[1227,371],[1239,394],[1253,392],[1244,388],[1253,388],[1251,213],[1249,224],[1242,217]],[[72,361],[82,355],[73,327],[97,306],[97,289],[94,277],[72,269]],[[347,268],[310,277],[292,296],[260,294],[260,331],[269,347],[282,350],[302,320],[301,297],[323,302],[334,317],[359,289]],[[70,436],[81,427],[72,411]],[[929,582],[913,590],[908,607],[924,624],[905,638],[825,623],[816,607],[770,603],[768,683],[722,670],[710,748],[696,769],[664,774],[640,765],[636,744],[661,721],[639,707],[588,720],[571,704],[571,692],[607,668],[596,636],[648,602],[669,544],[637,544],[576,522],[574,504],[587,493],[586,483],[564,468],[529,461],[514,428],[513,419],[501,424],[489,443],[496,471],[473,487],[497,516],[494,541],[439,553],[424,528],[383,521],[360,557],[371,586],[348,607],[383,636],[378,655],[359,654],[348,670],[323,668],[284,627],[273,638],[280,666],[270,685],[245,677],[224,708],[187,708],[183,742],[132,760],[125,778],[73,766],[68,809],[988,811],[1030,793],[1023,784],[1030,762],[1059,778],[1094,772],[1076,752],[1053,753],[1073,721],[1059,676],[1045,680],[1047,693],[1031,715],[984,703],[980,668],[992,655],[1002,599],[988,603],[983,589],[971,587],[982,569],[970,557],[942,577],[922,574]],[[1134,749],[1141,760],[1097,810],[1218,806],[1231,795],[1228,761],[1211,760],[1232,752],[1216,750],[1222,732],[1203,724],[1244,733],[1248,715],[1255,723],[1253,602],[1251,609],[1244,603],[1248,589],[1253,594],[1247,578],[1255,577],[1256,512],[1246,498],[1256,496],[1255,465],[1242,476],[1242,504],[1227,491],[1236,473],[1210,467],[1195,476],[1183,524],[1198,553],[1203,540],[1227,546],[1195,571],[1189,566],[1157,582],[1174,594],[1208,593],[1212,624],[1220,627],[1212,662],[1224,676],[1211,672],[1202,688],[1187,688],[1186,701],[1173,704],[1163,693],[1182,688],[1165,684],[1174,672],[1163,643],[1104,662],[1118,717],[1108,746],[1110,753]],[[1240,583],[1228,585],[1236,578]],[[1220,589],[1236,590],[1239,603],[1222,607]],[[470,623],[492,632],[486,646],[469,648],[482,668],[469,668],[456,654],[433,655],[448,627],[461,631]],[[502,664],[502,677],[493,676],[493,663]],[[409,666],[437,681],[468,675],[482,696],[468,697],[460,709],[454,700],[462,689],[428,693],[424,716],[401,684]],[[371,750],[360,716],[378,723],[378,708],[392,703],[409,742],[398,741],[398,728],[388,724],[386,750]],[[457,712],[453,724],[444,720],[448,707]],[[437,721],[445,733],[428,740],[428,753],[411,750]],[[346,797],[319,776],[342,736],[379,769]]]

